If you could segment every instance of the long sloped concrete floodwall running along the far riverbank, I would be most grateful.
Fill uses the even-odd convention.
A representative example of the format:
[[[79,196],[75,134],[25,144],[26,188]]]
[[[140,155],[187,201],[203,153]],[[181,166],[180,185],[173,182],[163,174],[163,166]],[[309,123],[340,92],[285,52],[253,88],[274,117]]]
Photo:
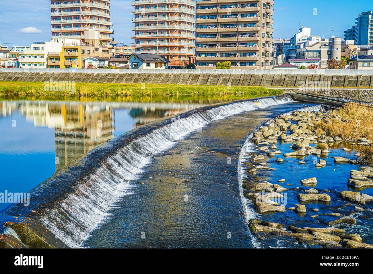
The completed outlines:
[[[373,87],[372,70],[0,69],[0,81],[339,88]]]

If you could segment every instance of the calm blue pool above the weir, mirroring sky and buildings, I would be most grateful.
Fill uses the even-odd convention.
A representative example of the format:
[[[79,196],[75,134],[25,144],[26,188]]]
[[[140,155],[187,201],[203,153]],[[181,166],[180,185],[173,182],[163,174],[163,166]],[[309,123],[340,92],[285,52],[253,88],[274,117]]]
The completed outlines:
[[[137,126],[243,97],[2,100],[0,192],[27,192],[98,145]],[[0,204],[0,210],[6,206]]]

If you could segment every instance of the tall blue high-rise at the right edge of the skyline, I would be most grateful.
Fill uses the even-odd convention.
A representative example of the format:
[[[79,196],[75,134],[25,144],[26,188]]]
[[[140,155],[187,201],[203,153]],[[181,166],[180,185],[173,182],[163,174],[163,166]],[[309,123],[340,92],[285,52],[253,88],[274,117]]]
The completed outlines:
[[[357,45],[373,45],[373,11],[360,13],[356,18]]]

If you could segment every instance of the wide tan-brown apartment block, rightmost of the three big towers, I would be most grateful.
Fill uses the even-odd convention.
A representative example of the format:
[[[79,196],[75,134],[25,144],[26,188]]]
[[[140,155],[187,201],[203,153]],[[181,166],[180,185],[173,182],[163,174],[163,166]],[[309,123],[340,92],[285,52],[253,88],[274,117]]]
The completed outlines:
[[[196,2],[196,68],[272,69],[273,0]]]

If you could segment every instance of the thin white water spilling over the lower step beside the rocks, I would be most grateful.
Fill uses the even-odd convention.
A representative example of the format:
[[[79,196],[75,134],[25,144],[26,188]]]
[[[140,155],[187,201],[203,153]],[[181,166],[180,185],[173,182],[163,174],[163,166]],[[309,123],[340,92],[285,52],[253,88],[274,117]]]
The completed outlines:
[[[298,111],[319,111],[321,109],[321,105],[312,105],[312,106],[306,106],[303,108],[298,108]],[[284,114],[281,114],[279,116],[285,116],[285,115],[291,115],[291,113],[296,110],[292,110],[289,112],[286,112]],[[264,125],[269,124],[269,122],[264,123]],[[244,162],[246,162],[251,157],[245,157],[245,155],[249,154],[250,152],[255,151],[255,146],[253,142],[251,142],[251,139],[253,139],[254,133],[251,133],[247,139],[245,140],[244,145],[242,145],[241,152],[239,154],[238,159],[238,185],[239,185],[239,193],[241,196],[242,201],[242,207],[245,212],[245,218],[247,225],[249,224],[249,220],[257,218],[259,216],[258,213],[256,213],[252,207],[250,207],[250,201],[244,197],[244,190],[242,188],[242,182],[245,177],[246,168]],[[253,246],[255,248],[261,248],[260,242],[257,241],[257,237],[254,237],[253,234],[251,234],[251,242],[253,243]]]

